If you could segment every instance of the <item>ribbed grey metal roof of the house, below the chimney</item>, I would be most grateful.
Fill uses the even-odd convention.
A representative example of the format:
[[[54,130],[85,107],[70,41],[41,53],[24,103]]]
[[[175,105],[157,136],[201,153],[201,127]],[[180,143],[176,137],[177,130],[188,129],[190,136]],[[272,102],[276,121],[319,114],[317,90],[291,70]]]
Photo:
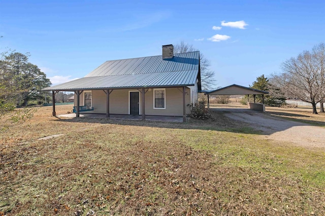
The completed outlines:
[[[85,77],[43,90],[75,91],[130,89],[194,85],[198,78],[200,53],[175,54],[171,59],[150,56],[106,61]]]

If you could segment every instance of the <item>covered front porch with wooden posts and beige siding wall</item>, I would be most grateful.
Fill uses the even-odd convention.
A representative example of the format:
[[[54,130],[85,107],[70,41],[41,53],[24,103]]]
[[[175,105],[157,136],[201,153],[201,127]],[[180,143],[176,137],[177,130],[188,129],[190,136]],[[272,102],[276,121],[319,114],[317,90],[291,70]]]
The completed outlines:
[[[165,108],[152,109],[154,105],[154,92],[164,91]],[[52,90],[52,100],[59,91],[72,92],[72,90]],[[106,117],[120,119],[142,119],[142,120],[162,120],[165,121],[186,121],[187,104],[189,103],[190,89],[182,87],[147,87],[147,88],[115,88],[115,89],[82,89],[74,90],[75,106],[72,114],[63,117]],[[85,106],[86,92],[92,92],[91,105]],[[132,112],[132,95],[135,97],[136,111]],[[150,94],[149,94],[150,93]],[[127,96],[128,94],[128,96]],[[167,96],[166,96],[167,94]],[[113,95],[113,97],[112,97]],[[127,98],[128,97],[128,98]],[[181,100],[179,100],[181,99]],[[166,100],[168,100],[166,102]],[[94,102],[95,101],[95,102]],[[166,105],[168,108],[166,108]],[[56,116],[55,103],[52,103],[52,115]],[[128,109],[128,112],[127,112]],[[113,110],[113,111],[112,111]],[[160,114],[161,113],[161,114]],[[177,119],[177,120],[175,120]]]

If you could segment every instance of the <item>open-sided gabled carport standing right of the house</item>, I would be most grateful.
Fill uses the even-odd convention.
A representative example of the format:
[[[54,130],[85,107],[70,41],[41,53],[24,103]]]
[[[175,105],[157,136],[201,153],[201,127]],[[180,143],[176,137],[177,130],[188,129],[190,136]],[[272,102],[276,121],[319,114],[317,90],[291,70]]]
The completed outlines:
[[[248,108],[256,111],[262,111],[265,112],[265,105],[264,105],[264,95],[269,94],[268,92],[262,91],[262,90],[257,90],[257,89],[252,89],[248,87],[243,87],[241,85],[237,84],[232,84],[229,85],[228,87],[224,87],[221,89],[213,90],[210,92],[206,92],[205,95],[208,97],[208,108],[210,108],[210,103],[209,103],[209,95],[247,95],[248,99],[249,96],[252,95],[254,97],[254,103],[247,103]],[[256,95],[262,95],[262,100],[263,103],[255,103],[255,97]]]

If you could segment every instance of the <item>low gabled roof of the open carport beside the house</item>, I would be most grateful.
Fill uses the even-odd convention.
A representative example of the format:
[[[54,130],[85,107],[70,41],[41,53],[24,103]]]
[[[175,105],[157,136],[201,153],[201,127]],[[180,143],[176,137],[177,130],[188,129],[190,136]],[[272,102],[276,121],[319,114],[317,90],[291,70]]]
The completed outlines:
[[[264,95],[269,94],[268,92],[252,89],[248,87],[243,87],[241,85],[232,84],[228,87],[213,90],[205,93],[205,95]]]

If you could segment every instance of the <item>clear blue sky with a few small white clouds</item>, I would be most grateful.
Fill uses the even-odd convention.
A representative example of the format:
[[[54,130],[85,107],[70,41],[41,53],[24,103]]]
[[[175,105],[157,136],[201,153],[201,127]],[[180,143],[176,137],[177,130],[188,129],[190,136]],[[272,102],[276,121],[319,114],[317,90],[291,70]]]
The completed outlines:
[[[107,60],[200,50],[216,86],[248,86],[325,41],[325,1],[5,1],[0,51],[29,52],[53,84]]]

